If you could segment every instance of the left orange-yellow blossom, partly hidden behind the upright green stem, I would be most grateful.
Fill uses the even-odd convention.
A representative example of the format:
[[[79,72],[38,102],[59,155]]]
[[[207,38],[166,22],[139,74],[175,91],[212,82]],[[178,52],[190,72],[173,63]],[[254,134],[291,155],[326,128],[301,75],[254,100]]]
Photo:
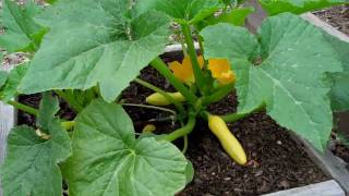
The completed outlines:
[[[202,56],[198,56],[197,61],[200,68],[202,69],[204,66],[204,58]],[[169,68],[173,72],[174,76],[181,82],[188,85],[195,83],[192,62],[189,56],[184,57],[182,63],[178,61],[170,62]]]

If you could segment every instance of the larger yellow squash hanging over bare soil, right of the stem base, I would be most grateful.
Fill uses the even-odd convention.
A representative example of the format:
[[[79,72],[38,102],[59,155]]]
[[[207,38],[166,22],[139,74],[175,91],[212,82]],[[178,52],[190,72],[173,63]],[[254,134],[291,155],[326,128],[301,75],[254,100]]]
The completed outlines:
[[[218,137],[226,152],[239,164],[246,164],[246,154],[239,140],[229,131],[226,122],[218,115],[208,115],[208,127]]]

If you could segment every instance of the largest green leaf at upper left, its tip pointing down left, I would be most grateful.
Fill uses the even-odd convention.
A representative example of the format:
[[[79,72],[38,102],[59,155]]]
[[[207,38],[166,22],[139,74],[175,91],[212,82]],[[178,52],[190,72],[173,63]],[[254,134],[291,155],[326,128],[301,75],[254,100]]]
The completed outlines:
[[[120,13],[124,0],[58,1],[45,23],[51,30],[20,85],[25,94],[88,89],[99,84],[112,101],[140,70],[163,53],[169,20],[153,11],[130,24]],[[127,12],[127,11],[124,11]]]

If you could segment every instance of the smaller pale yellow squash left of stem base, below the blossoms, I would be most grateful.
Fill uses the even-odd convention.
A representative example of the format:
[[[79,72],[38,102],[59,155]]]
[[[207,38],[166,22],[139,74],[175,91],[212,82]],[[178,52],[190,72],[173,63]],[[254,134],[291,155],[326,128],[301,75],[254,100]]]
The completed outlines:
[[[167,93],[167,95],[169,95],[170,97],[172,97],[172,99],[183,102],[185,101],[185,98],[182,96],[181,93]],[[169,106],[171,105],[171,102],[161,94],[159,93],[155,93],[149,95],[145,101],[149,105],[153,106]]]

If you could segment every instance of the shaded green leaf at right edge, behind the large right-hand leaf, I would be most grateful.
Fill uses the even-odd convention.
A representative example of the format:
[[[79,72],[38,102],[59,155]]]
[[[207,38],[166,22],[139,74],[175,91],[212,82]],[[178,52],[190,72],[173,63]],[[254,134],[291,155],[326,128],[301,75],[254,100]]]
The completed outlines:
[[[339,54],[344,72],[329,74],[332,81],[332,89],[329,98],[332,101],[332,109],[334,111],[349,110],[349,42],[339,40],[324,33],[326,39]]]

